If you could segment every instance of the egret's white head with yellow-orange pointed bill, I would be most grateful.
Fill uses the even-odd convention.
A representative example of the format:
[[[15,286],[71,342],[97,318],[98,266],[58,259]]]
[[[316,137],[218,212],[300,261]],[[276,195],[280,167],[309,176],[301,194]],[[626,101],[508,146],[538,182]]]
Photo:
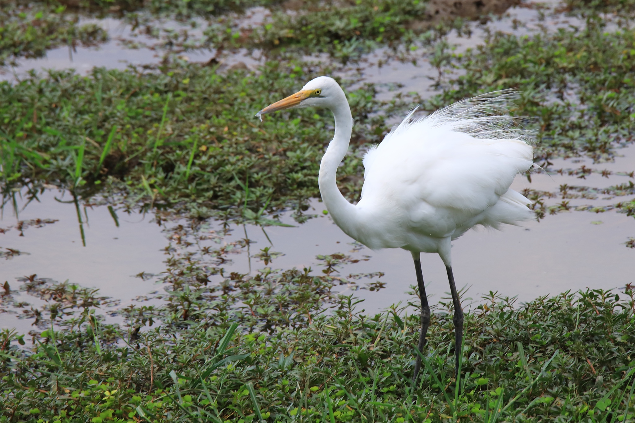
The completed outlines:
[[[260,110],[256,117],[262,120],[262,115],[273,113],[277,110],[284,110],[285,108],[333,108],[341,103],[342,100],[346,101],[346,96],[342,88],[335,82],[335,79],[328,76],[319,76],[307,82],[297,93]]]

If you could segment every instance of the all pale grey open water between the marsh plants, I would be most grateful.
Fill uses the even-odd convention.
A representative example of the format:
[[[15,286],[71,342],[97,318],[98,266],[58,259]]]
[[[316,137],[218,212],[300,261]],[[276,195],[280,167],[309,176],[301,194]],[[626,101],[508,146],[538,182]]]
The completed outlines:
[[[553,8],[553,4],[551,7]],[[262,16],[255,13],[256,22]],[[246,24],[251,23],[246,18]],[[514,27],[514,20],[520,20],[525,26]],[[107,19],[100,21],[109,29],[111,41],[98,48],[77,48],[69,56],[68,48],[51,50],[47,57],[37,60],[22,60],[14,73],[0,75],[0,79],[11,80],[25,75],[27,70],[35,68],[76,68],[80,73],[88,72],[93,66],[124,68],[128,64],[157,63],[160,52],[149,48],[123,48],[121,39],[130,39],[130,27],[121,21]],[[471,37],[458,37],[451,34],[450,44],[457,45],[455,51],[464,51],[474,47],[485,39],[486,27],[491,30],[504,30],[522,34],[540,29],[547,25],[549,29],[578,25],[572,18],[563,15],[549,15],[542,20],[540,13],[531,8],[513,8],[501,20],[494,20],[486,26],[471,23]],[[156,39],[134,37],[136,41],[156,42]],[[242,53],[241,53],[242,54]],[[384,57],[382,51],[371,55],[361,70],[349,69],[349,75],[367,82],[384,84],[384,87],[399,83],[398,91],[407,93],[416,91],[424,98],[436,92],[438,72],[427,62],[422,51],[417,65],[392,61],[382,67],[378,60]],[[72,58],[71,58],[72,56]],[[209,51],[187,53],[187,60],[205,62],[212,54]],[[228,63],[249,62],[249,58],[236,55],[227,58]],[[389,99],[394,91],[385,91],[381,98]],[[531,182],[525,176],[518,176],[512,188],[541,190],[553,193],[552,198],[544,198],[545,205],[556,205],[565,200],[560,192],[561,185],[589,186],[605,188],[608,186],[635,181],[625,173],[635,171],[635,147],[618,150],[622,157],[614,162],[593,164],[591,159],[553,160],[549,172],[531,175]],[[566,170],[590,167],[600,172],[612,172],[608,178],[598,172],[586,175],[568,175]],[[556,169],[565,169],[557,174]],[[61,200],[62,202],[56,200]],[[606,206],[617,202],[632,200],[634,196],[613,197],[598,195],[595,199],[567,198],[571,207],[584,205]],[[11,287],[18,286],[17,278],[37,274],[59,282],[69,280],[85,287],[95,287],[105,296],[121,300],[120,306],[135,302],[138,296],[162,289],[157,281],[166,270],[164,247],[170,240],[166,238],[167,229],[172,223],[157,225],[151,214],[123,214],[117,211],[117,227],[109,209],[104,205],[80,208],[84,240],[81,235],[76,206],[68,192],[49,190],[39,196],[39,202],[32,202],[22,210],[25,200],[18,201],[18,216],[13,214],[10,205],[4,207],[0,219],[0,228],[16,225],[17,221],[29,219],[58,219],[41,228],[30,227],[20,231],[15,227],[0,233],[0,252],[8,249],[28,254],[0,257],[0,283],[7,281]],[[340,285],[336,289],[342,294],[354,294],[364,303],[361,308],[374,313],[393,303],[408,301],[405,294],[416,283],[410,253],[401,250],[370,251],[351,245],[352,239],[344,235],[328,216],[321,212],[323,205],[319,200],[312,203],[312,213],[318,217],[303,225],[297,225],[288,214],[282,216],[286,223],[297,225],[294,228],[272,226],[232,226],[231,235],[224,242],[245,237],[253,240],[250,251],[233,255],[231,263],[224,266],[228,271],[247,273],[264,267],[254,254],[259,249],[270,246],[272,251],[284,255],[274,259],[270,266],[274,268],[304,268],[311,266],[315,272],[321,270],[318,254],[337,252],[350,254],[359,263],[347,264],[339,270],[339,275],[347,277],[350,273],[384,272],[378,278],[361,278],[356,285]],[[218,224],[220,225],[220,224]],[[267,235],[269,239],[267,239]],[[478,301],[482,294],[490,290],[504,296],[518,295],[521,301],[529,301],[538,296],[557,294],[565,290],[592,288],[624,287],[634,283],[631,263],[635,258],[635,249],[629,249],[625,242],[635,237],[635,219],[626,214],[607,211],[599,214],[586,211],[560,212],[555,216],[545,216],[541,221],[532,221],[522,227],[507,226],[502,231],[472,230],[453,242],[453,270],[458,287],[469,287],[467,297]],[[85,243],[85,246],[84,246]],[[10,254],[5,254],[10,256]],[[364,259],[367,259],[365,261]],[[433,302],[447,295],[447,277],[445,267],[436,254],[423,254],[422,264],[427,292]],[[136,277],[140,273],[157,275],[149,279]],[[337,274],[336,274],[337,275]],[[365,288],[368,282],[380,280],[385,288],[371,291]],[[22,296],[23,301],[37,304],[37,301]],[[1,299],[0,299],[1,301]],[[0,314],[0,327],[17,327],[22,332],[30,329],[28,320],[17,320],[15,315]]]

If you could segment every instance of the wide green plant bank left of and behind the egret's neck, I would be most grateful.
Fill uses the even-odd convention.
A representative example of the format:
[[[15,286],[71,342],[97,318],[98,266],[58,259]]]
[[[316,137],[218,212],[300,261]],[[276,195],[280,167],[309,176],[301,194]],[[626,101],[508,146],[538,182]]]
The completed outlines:
[[[95,69],[88,77],[50,72],[4,82],[3,179],[48,181],[84,196],[102,183],[119,183],[153,204],[188,200],[255,211],[297,205],[318,195],[331,118],[301,110],[260,123],[254,115],[315,72],[272,62],[259,72],[190,65],[147,73]],[[371,115],[382,107],[374,96],[372,86],[349,92],[358,119],[341,173],[349,192],[359,189],[359,179],[344,179],[361,174],[356,149],[385,131],[383,120]]]

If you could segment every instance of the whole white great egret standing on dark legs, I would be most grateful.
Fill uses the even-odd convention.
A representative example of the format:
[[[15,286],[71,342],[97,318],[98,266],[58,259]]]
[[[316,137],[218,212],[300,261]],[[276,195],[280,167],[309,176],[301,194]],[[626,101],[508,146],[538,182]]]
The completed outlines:
[[[262,115],[291,107],[326,107],[335,117],[335,135],[319,168],[319,190],[333,221],[349,237],[371,249],[403,248],[415,261],[425,346],[430,307],[420,253],[436,252],[445,263],[454,304],[456,372],[463,337],[463,310],[457,294],[450,242],[475,225],[498,228],[533,218],[530,201],[509,188],[519,172],[533,166],[531,131],[501,114],[513,91],[497,91],[458,101],[427,117],[401,124],[364,156],[364,185],[357,204],[337,188],[335,174],[344,159],[353,119],[342,88],[326,76],[260,110]],[[495,114],[493,114],[495,112]],[[415,362],[413,381],[421,367]]]

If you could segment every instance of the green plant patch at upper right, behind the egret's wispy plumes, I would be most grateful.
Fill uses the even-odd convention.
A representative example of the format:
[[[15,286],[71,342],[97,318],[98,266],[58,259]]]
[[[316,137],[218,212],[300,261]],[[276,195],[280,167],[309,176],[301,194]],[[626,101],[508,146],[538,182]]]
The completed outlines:
[[[451,79],[431,103],[451,103],[483,91],[516,88],[513,113],[537,118],[537,160],[589,155],[610,160],[632,141],[635,94],[632,31],[607,31],[599,18],[582,29],[546,29],[531,36],[497,32],[485,44],[454,55],[464,75]]]

